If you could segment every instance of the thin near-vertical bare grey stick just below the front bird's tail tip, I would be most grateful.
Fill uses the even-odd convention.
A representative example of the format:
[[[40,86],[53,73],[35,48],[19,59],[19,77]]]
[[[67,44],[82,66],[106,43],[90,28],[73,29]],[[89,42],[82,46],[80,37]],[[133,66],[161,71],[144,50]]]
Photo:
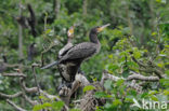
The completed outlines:
[[[36,83],[36,86],[38,88],[38,95],[40,96],[40,86],[38,84],[38,81],[37,81],[37,75],[36,75],[36,71],[35,71],[35,67],[37,66],[37,64],[32,64],[32,74],[34,74],[34,79],[35,79],[35,83]],[[40,100],[40,103],[42,105],[42,100],[39,98]]]

